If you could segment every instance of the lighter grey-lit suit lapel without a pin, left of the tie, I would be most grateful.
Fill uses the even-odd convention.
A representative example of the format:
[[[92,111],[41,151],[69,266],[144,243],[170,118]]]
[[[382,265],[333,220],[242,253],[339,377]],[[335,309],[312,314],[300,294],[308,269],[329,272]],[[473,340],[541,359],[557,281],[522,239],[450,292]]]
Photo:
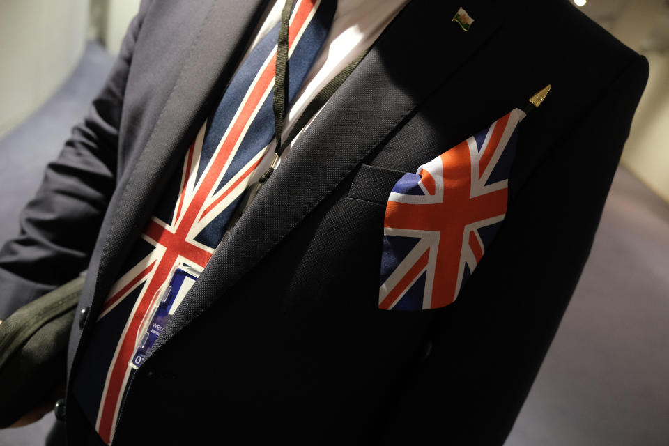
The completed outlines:
[[[112,199],[109,230],[102,245],[94,291],[85,293],[92,313],[105,300],[132,243],[146,226],[157,198],[194,139],[243,55],[268,0],[212,0],[189,56],[160,117],[130,172]],[[205,6],[198,6],[199,8]],[[95,268],[93,262],[91,266]]]

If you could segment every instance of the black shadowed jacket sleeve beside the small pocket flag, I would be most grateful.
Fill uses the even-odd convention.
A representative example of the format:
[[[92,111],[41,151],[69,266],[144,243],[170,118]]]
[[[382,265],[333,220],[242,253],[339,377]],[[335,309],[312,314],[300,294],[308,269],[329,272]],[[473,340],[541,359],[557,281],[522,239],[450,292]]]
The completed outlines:
[[[647,77],[635,56],[519,188],[458,300],[436,310],[382,444],[505,442],[590,253]]]

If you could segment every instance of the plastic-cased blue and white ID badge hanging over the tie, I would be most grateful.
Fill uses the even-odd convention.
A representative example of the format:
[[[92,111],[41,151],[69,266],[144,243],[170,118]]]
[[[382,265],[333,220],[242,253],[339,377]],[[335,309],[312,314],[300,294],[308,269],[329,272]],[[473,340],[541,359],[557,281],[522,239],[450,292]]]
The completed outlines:
[[[146,312],[144,320],[139,326],[137,344],[129,363],[130,367],[137,369],[144,362],[146,353],[158,339],[170,316],[174,314],[198,276],[199,272],[197,270],[185,266],[179,266],[172,270],[167,286],[155,294],[151,309]]]

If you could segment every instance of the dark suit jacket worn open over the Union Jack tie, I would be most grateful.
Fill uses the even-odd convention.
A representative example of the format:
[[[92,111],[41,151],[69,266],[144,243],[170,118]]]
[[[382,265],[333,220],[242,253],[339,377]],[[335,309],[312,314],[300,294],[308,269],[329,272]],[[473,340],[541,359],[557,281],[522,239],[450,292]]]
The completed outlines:
[[[151,1],[0,256],[0,317],[88,268],[77,351],[216,104],[260,0]],[[460,6],[469,32],[450,18]],[[566,0],[414,0],[302,134],[129,385],[114,444],[505,440],[587,259],[647,61]],[[385,200],[553,84],[458,300],[377,308]],[[70,444],[90,429],[68,398]],[[147,426],[169,425],[169,429]]]

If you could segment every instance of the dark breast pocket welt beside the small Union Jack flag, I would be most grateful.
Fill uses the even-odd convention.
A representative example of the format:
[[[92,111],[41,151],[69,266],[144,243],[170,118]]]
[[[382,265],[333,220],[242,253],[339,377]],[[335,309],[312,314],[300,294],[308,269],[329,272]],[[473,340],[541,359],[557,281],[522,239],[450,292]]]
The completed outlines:
[[[405,174],[403,171],[362,164],[348,190],[348,198],[386,205],[392,187]]]

